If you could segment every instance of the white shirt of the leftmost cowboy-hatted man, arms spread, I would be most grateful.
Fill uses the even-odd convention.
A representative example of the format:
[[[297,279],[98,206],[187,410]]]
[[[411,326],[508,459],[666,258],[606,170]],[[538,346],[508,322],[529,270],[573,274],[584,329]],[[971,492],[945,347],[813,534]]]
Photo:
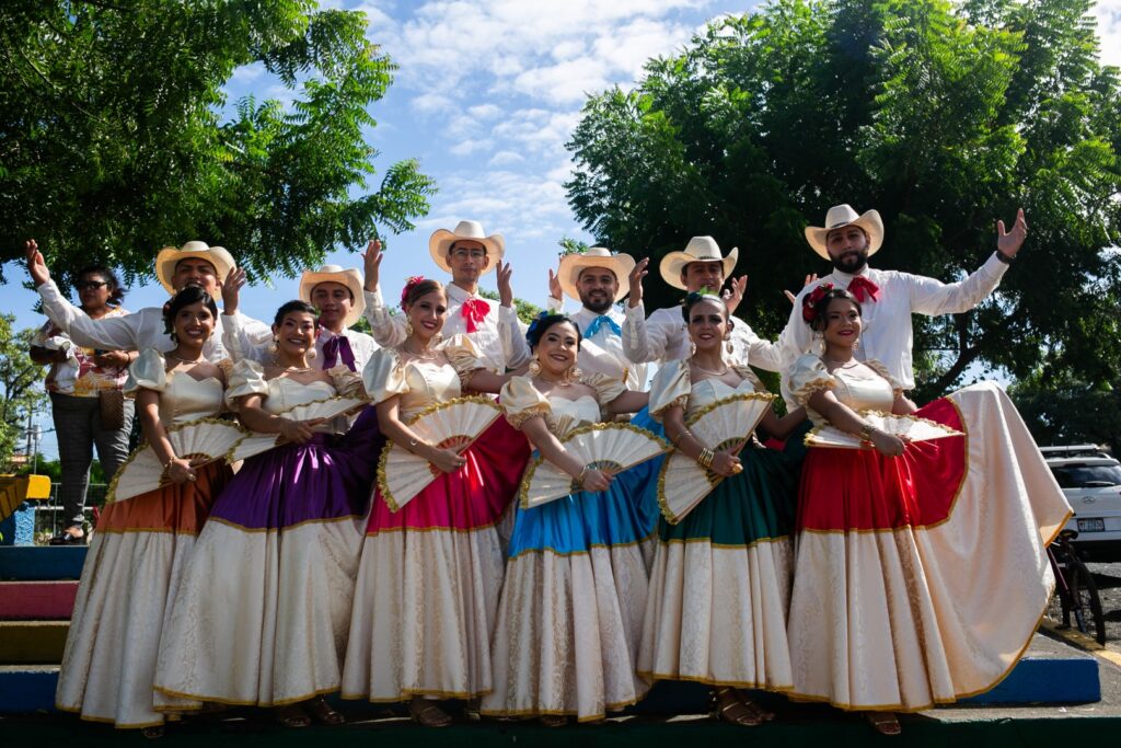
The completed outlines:
[[[124,316],[91,320],[90,315],[71,304],[59,293],[54,280],[41,284],[38,292],[43,298],[43,311],[78,345],[110,351],[142,351],[154,348],[160,353],[175,348],[175,341],[164,331],[161,308],[147,306]],[[233,316],[240,322],[238,329],[243,341],[243,350],[271,342],[272,329],[263,322],[247,317],[240,312],[235,315],[219,314],[214,322],[214,334],[203,343],[203,355],[207,361],[216,363],[230,358],[222,340],[224,327],[222,321],[223,318],[229,321]]]

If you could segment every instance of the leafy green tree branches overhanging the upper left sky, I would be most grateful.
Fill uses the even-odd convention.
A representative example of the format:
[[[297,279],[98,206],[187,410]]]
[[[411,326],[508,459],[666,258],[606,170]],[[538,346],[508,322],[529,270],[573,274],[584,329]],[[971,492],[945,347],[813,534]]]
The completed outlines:
[[[433,182],[415,160],[374,188],[369,112],[396,66],[365,16],[313,0],[8,0],[0,15],[0,260],[35,236],[52,267],[131,280],[203,239],[251,275],[410,230]],[[257,64],[290,109],[223,86]]]

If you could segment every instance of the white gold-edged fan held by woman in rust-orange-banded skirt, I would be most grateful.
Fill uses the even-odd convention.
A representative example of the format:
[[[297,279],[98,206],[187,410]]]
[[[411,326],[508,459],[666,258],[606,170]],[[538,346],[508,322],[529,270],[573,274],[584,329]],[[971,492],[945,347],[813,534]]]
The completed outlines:
[[[167,430],[167,440],[175,455],[198,464],[222,460],[245,437],[245,431],[232,421],[202,418]],[[106,504],[131,499],[169,484],[164,463],[146,444],[124,461],[109,486]]]

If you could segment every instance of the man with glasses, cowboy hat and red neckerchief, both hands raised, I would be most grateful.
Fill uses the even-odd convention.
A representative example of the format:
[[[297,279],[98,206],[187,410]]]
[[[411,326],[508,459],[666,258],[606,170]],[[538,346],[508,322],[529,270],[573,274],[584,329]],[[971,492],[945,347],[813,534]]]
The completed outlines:
[[[428,240],[436,265],[451,274],[444,336],[465,333],[490,371],[506,373],[529,363],[529,345],[513,310],[510,264],[502,262],[506,242],[501,234],[487,236],[478,221],[460,221],[454,231],[441,229]],[[406,338],[405,316],[390,315],[378,285],[381,242],[371,241],[365,258],[365,318],[373,339],[383,348]],[[479,296],[479,278],[498,268],[499,304]]]

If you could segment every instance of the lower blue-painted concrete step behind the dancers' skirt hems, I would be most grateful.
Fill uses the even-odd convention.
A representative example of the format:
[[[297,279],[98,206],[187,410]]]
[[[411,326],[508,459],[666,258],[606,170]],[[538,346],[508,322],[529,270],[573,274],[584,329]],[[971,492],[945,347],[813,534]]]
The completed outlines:
[[[1037,636],[1028,655],[1000,685],[986,694],[958,703],[971,707],[1095,703],[1102,698],[1097,664],[1093,656]],[[0,714],[53,710],[57,676],[57,665],[0,667]],[[767,698],[785,701],[781,696]],[[367,708],[364,702],[342,704],[346,710]],[[707,709],[706,686],[666,681],[658,683],[643,701],[629,711],[640,714],[701,714]]]

